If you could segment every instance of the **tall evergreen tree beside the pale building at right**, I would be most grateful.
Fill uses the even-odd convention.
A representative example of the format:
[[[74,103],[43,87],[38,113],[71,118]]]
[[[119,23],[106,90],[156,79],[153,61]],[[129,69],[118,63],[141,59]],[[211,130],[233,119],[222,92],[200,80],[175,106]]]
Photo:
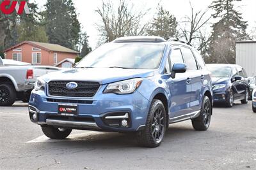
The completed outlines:
[[[216,0],[212,3],[211,8],[216,11],[213,17],[220,20],[212,25],[207,62],[234,64],[236,41],[248,38],[247,22],[234,9],[233,1],[235,0]]]

